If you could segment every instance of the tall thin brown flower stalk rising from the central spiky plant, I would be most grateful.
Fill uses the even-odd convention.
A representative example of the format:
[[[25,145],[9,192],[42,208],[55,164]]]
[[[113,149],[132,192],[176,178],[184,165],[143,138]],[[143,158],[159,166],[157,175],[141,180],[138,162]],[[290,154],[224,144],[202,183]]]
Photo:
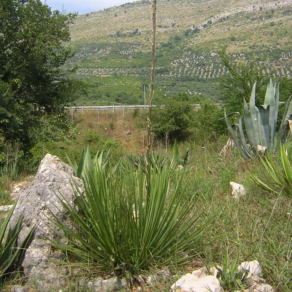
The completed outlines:
[[[151,107],[152,107],[152,95],[153,95],[153,79],[154,79],[154,55],[155,55],[155,20],[156,20],[156,0],[153,0],[153,12],[152,12],[152,61],[151,61],[151,77],[150,77],[150,85],[149,85],[149,103],[148,103],[148,126],[147,126],[147,152],[146,152],[146,182],[148,178],[148,166],[150,159],[150,136],[151,136]]]

